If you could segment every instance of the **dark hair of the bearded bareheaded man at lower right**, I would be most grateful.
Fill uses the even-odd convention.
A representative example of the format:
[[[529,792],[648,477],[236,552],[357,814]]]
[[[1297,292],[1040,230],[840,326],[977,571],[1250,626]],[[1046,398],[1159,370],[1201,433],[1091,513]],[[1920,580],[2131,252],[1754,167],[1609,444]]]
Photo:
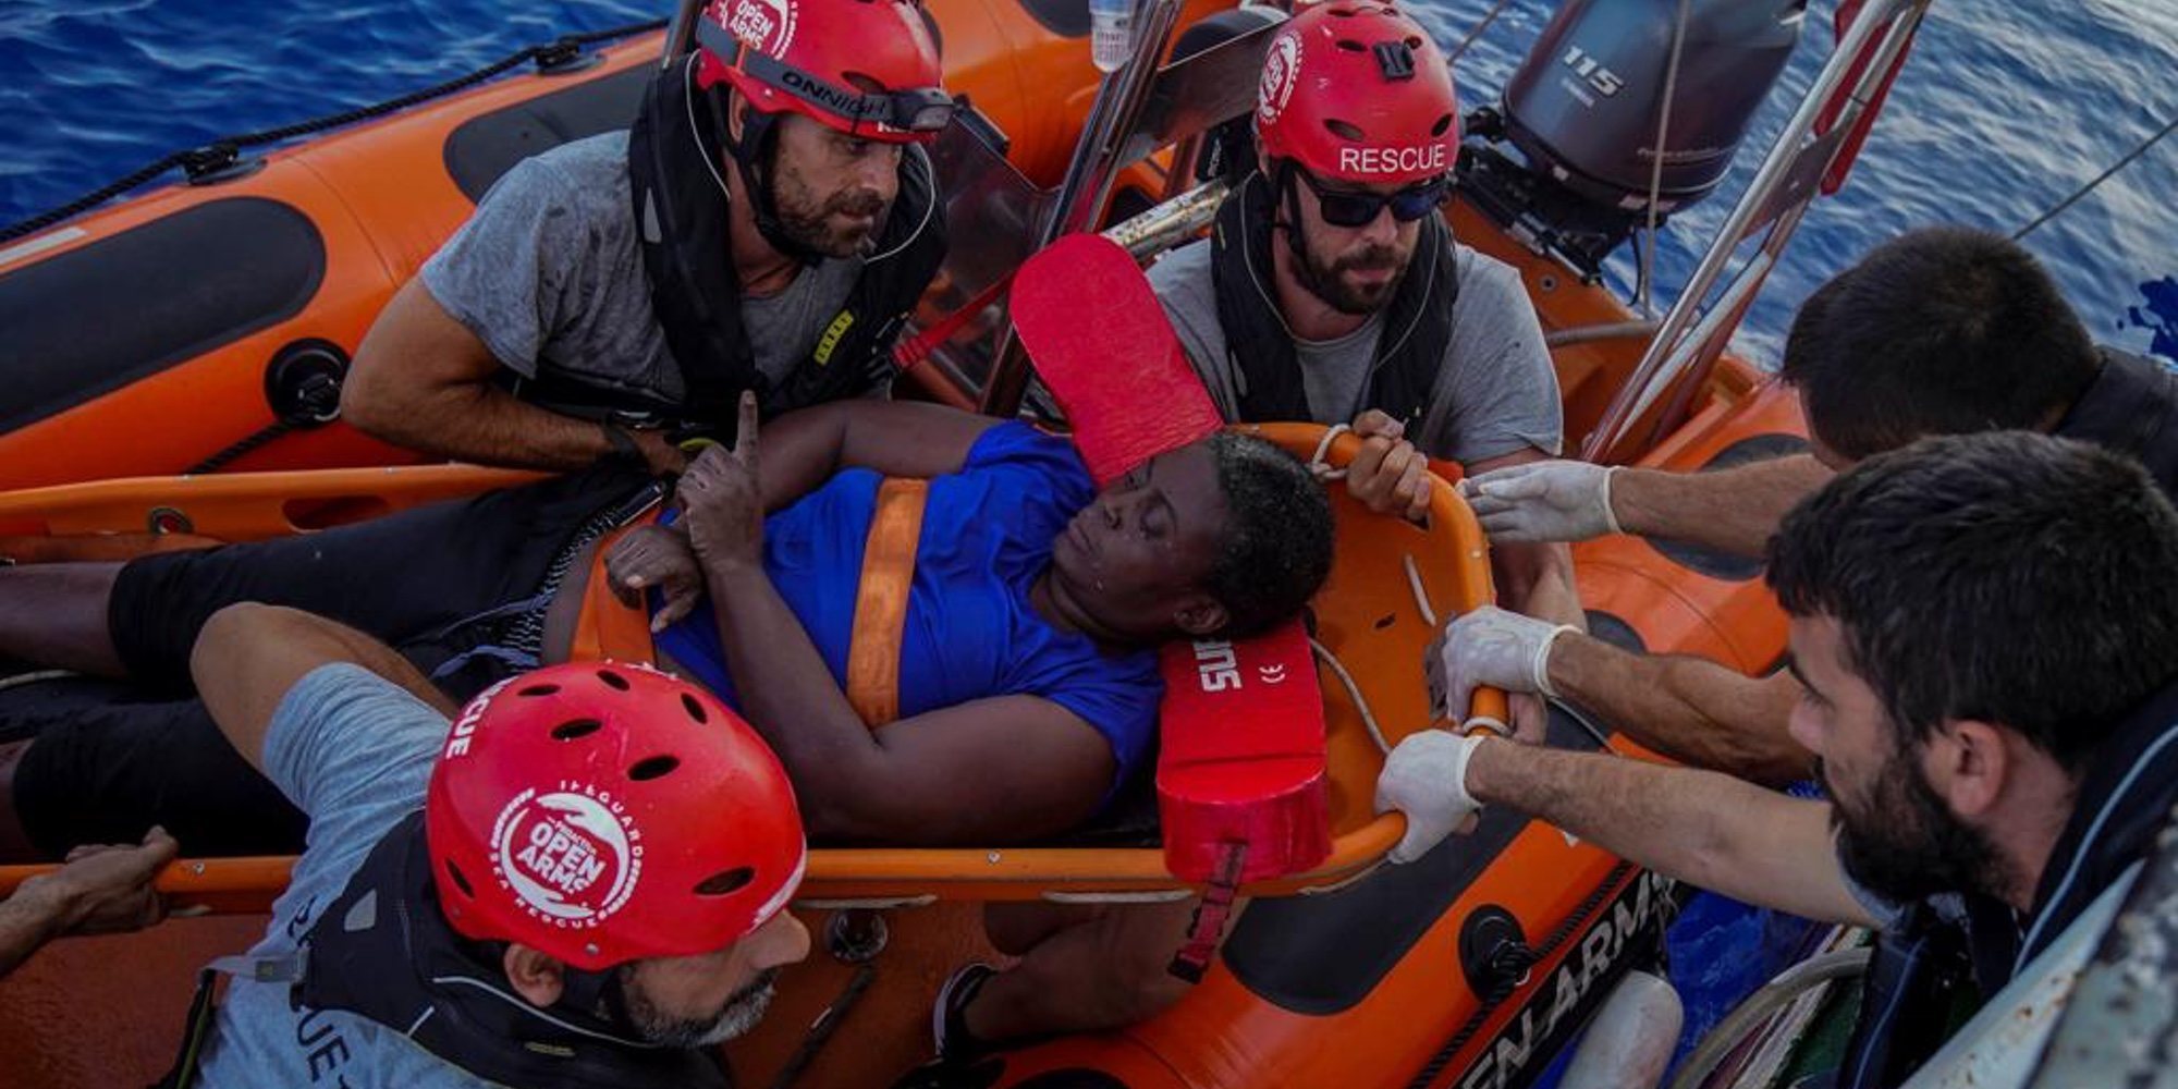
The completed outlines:
[[[1980,719],[2078,773],[2178,675],[2178,512],[2084,442],[1984,431],[1869,457],[1786,516],[1769,584],[1840,625],[1899,741]]]

